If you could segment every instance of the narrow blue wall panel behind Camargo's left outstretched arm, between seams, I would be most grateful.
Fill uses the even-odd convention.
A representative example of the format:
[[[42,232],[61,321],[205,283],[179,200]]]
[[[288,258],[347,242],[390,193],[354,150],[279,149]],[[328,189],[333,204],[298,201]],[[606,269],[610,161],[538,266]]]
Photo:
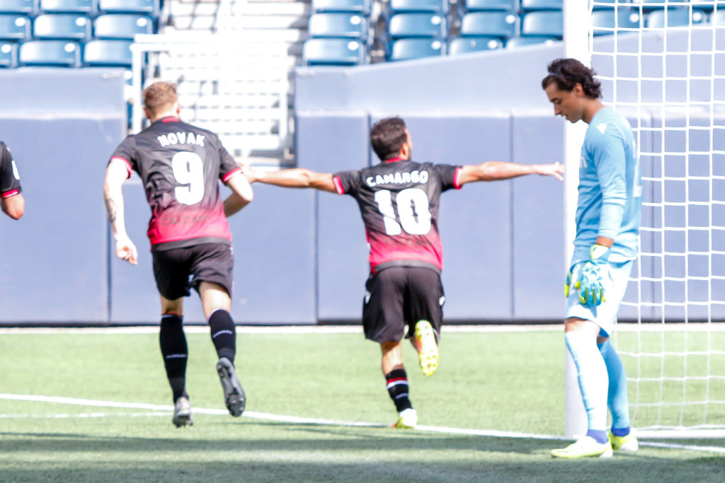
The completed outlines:
[[[367,115],[298,112],[295,125],[299,167],[337,172],[368,166]],[[350,196],[314,196],[317,219],[307,221],[316,224],[317,318],[359,320],[370,269],[360,210]]]

